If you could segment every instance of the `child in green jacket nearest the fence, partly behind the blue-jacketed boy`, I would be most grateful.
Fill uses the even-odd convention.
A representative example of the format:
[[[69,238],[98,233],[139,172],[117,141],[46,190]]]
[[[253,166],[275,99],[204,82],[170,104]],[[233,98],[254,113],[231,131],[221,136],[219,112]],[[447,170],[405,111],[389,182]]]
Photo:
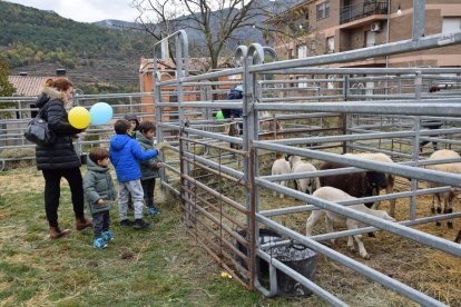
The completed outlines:
[[[156,127],[151,121],[143,121],[139,125],[139,131],[136,139],[145,151],[154,149],[154,136]],[[139,161],[141,171],[141,186],[144,190],[144,200],[147,205],[148,215],[159,214],[154,205],[155,178],[159,177],[159,169],[164,167],[163,162],[157,158]]]

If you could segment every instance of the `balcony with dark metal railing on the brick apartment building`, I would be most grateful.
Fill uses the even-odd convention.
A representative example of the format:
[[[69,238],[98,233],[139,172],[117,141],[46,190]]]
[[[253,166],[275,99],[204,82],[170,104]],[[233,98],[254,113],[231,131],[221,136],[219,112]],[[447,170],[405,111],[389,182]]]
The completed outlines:
[[[364,0],[344,6],[340,11],[340,23],[343,24],[372,14],[388,14],[388,0]]]

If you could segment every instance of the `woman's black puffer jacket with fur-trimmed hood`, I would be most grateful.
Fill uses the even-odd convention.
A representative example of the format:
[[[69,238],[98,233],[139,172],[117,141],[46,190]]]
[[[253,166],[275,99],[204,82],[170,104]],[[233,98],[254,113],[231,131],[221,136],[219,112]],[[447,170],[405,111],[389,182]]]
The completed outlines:
[[[42,118],[56,133],[52,145],[36,147],[38,169],[69,169],[80,167],[80,159],[73,149],[71,136],[81,132],[70,126],[63,107],[66,97],[53,88],[43,88],[36,101],[38,108],[45,108]]]

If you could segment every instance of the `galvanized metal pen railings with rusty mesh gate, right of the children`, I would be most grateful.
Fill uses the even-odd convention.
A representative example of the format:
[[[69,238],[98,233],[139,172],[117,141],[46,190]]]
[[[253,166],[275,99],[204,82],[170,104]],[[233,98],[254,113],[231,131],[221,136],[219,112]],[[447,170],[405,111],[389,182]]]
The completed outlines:
[[[423,2],[414,2],[414,24],[421,26],[421,22],[424,22]],[[461,116],[460,96],[453,95],[449,98],[440,97],[439,99],[439,97],[433,96],[425,97],[422,92],[424,87],[441,78],[440,73],[460,73],[461,71],[459,69],[424,68],[312,68],[315,65],[344,62],[404,51],[437,48],[440,44],[440,40],[443,39],[442,36],[423,37],[420,26],[416,27],[418,29],[414,28],[413,39],[409,41],[370,47],[363,50],[350,51],[347,55],[333,53],[281,62],[263,62],[267,57],[276,60],[276,55],[271,48],[265,48],[257,43],[253,43],[249,47],[241,46],[235,52],[235,69],[198,76],[188,75],[188,42],[187,34],[184,31],[174,33],[156,44],[154,73],[156,120],[159,127],[157,138],[158,141],[163,141],[166,136],[169,136],[170,140],[175,138],[174,136],[177,136],[177,141],[171,141],[170,143],[173,145],[171,150],[178,155],[178,159],[176,161],[170,160],[167,166],[168,172],[177,175],[178,184],[174,184],[174,180],[171,180],[174,178],[167,178],[164,174],[163,187],[174,191],[183,200],[185,222],[189,226],[190,235],[205,247],[222,267],[247,288],[257,288],[267,296],[276,295],[277,281],[273,274],[276,275],[276,271],[283,271],[330,304],[335,306],[345,305],[334,294],[322,289],[315,283],[301,276],[267,254],[267,250],[258,242],[258,229],[269,227],[416,303],[433,306],[443,305],[425,294],[318,244],[320,240],[382,229],[461,257],[460,246],[408,227],[410,225],[460,217],[461,212],[415,219],[415,204],[413,201],[409,220],[395,224],[346,207],[346,205],[360,204],[365,200],[375,201],[400,197],[412,197],[415,199],[418,195],[432,194],[448,188],[441,187],[437,190],[420,189],[415,185],[416,180],[431,179],[442,186],[460,185],[461,176],[459,175],[447,175],[419,168],[419,165],[430,162],[420,161],[414,148],[418,148],[421,137],[431,138],[431,136],[435,135],[431,131],[421,131],[421,119],[428,116],[443,118],[447,122],[453,122],[452,128],[443,130],[447,137],[440,141],[450,146],[460,143],[459,140],[450,138],[451,133],[459,132],[457,122],[460,121],[459,117]],[[461,31],[453,32],[451,38],[449,42],[444,41],[444,43],[460,43]],[[171,40],[176,43],[177,67],[175,78],[165,80],[161,70],[157,67],[156,55],[159,53],[159,48],[164,41]],[[396,80],[390,80],[389,76],[392,73],[399,76],[396,78],[400,85],[402,81],[411,80],[411,89],[405,87],[405,89],[399,89],[395,93],[395,89],[400,86],[392,86],[392,82]],[[264,76],[267,75],[278,75],[281,77],[274,80],[266,80]],[[320,77],[313,80],[315,89],[307,97],[300,93],[297,96],[278,95],[274,97],[274,95],[271,95],[271,91],[300,92],[311,89],[308,86],[310,80],[295,82],[292,79],[287,80],[288,78],[284,78],[286,75],[336,75],[336,78]],[[352,78],[351,75],[366,76]],[[373,75],[379,77],[367,77]],[[236,78],[229,78],[235,76],[239,76],[237,78],[238,81],[236,81]],[[227,79],[223,81],[223,78]],[[404,80],[405,78],[406,81]],[[385,83],[382,90],[376,87],[372,91],[366,91],[363,90],[363,86],[360,90],[356,90],[357,87],[354,86],[379,79]],[[458,79],[459,77],[453,77],[455,82],[459,82]],[[288,86],[300,82],[303,82],[302,88],[305,87],[306,89],[293,89],[293,87]],[[327,91],[321,93],[322,86],[318,85],[328,82],[342,85],[336,88],[337,95],[331,95]],[[223,98],[229,86],[238,83],[244,86],[242,100],[229,101]],[[175,99],[170,99],[171,96]],[[430,101],[435,103],[424,103],[425,99],[431,99]],[[328,101],[328,103],[323,101]],[[216,119],[214,115],[224,108],[243,109],[242,119]],[[272,113],[267,115],[267,112]],[[301,120],[311,118],[311,121],[298,123],[295,120],[300,120],[300,117],[303,118]],[[325,123],[325,118],[327,117],[337,117],[340,120],[337,127],[332,129],[330,123]],[[320,121],[313,123],[312,118],[317,118]],[[292,128],[287,129],[290,132],[286,130],[284,132],[278,131],[276,128],[266,132],[262,131],[264,129],[263,122],[266,120],[273,120],[274,122],[290,122],[290,120],[293,120],[293,125],[291,126]],[[377,123],[369,125],[367,122]],[[394,122],[398,122],[398,127],[392,125]],[[229,136],[224,129],[232,125],[242,125],[244,132],[237,136]],[[300,127],[300,125],[303,125],[303,127]],[[323,132],[328,133],[328,129],[330,131],[341,132],[337,135],[322,135]],[[284,133],[287,136],[286,139],[262,140],[267,135],[278,136]],[[296,133],[297,136],[301,135],[301,137],[296,137]],[[379,140],[377,142],[374,141],[376,139]],[[385,141],[386,139],[390,139],[390,141]],[[395,142],[399,143],[395,145]],[[242,150],[229,149],[227,143],[242,146]],[[412,161],[386,165],[315,150],[312,147],[313,143],[317,149],[335,147],[341,148],[343,152],[353,150],[384,151],[396,160],[410,157]],[[336,145],[333,146],[332,143]],[[300,145],[311,146],[308,148],[296,147]],[[274,184],[274,181],[278,180],[325,176],[325,172],[261,177],[262,161],[259,159],[264,154],[263,151],[278,151],[320,161],[337,161],[351,166],[351,168],[344,169],[344,172],[369,169],[405,176],[412,178],[412,185],[409,192],[361,198],[355,201],[347,201],[343,206]],[[235,157],[242,157],[241,164],[238,164]],[[175,164],[179,166],[179,169],[174,166]],[[263,188],[282,192],[311,205],[261,211],[258,199]],[[273,217],[281,215],[291,215],[318,208],[335,211],[373,227],[305,237],[273,219]],[[269,263],[269,289],[261,285],[255,265],[256,259]]]

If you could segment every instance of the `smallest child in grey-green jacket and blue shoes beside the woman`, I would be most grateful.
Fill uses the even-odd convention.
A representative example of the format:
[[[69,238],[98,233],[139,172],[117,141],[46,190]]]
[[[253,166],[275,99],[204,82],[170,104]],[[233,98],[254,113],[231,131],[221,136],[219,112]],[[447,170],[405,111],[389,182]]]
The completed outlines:
[[[112,178],[109,171],[109,151],[95,147],[89,152],[88,171],[84,178],[85,199],[92,215],[95,248],[106,248],[114,240],[109,231],[112,201],[117,198]]]

